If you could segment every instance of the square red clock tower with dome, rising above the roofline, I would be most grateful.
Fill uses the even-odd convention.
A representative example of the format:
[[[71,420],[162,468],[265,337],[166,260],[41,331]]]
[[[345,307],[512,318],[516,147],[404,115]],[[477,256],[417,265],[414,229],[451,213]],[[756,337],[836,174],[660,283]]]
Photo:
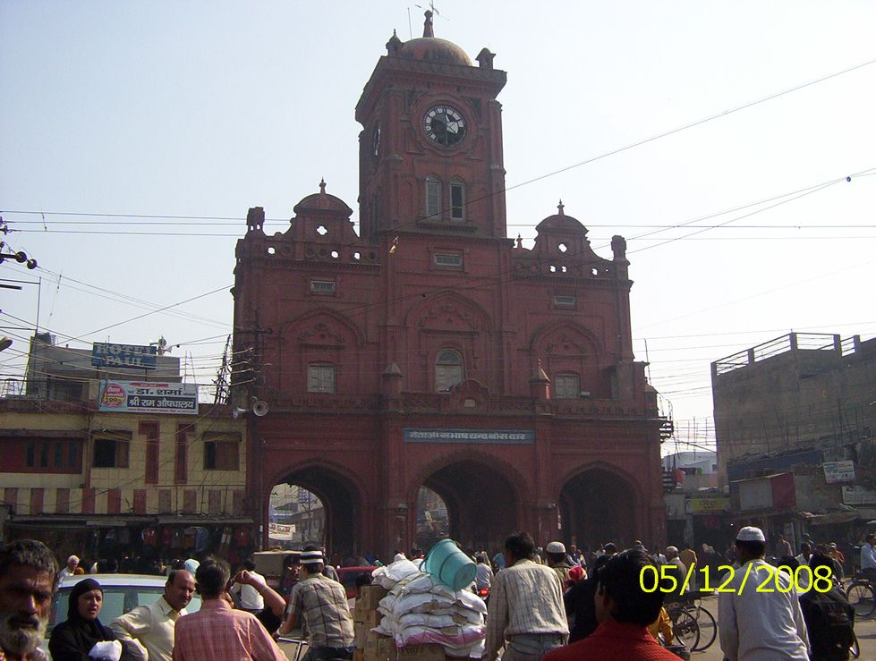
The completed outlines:
[[[506,73],[486,48],[472,65],[437,38],[395,32],[356,105],[361,235],[391,231],[506,238],[502,106]]]

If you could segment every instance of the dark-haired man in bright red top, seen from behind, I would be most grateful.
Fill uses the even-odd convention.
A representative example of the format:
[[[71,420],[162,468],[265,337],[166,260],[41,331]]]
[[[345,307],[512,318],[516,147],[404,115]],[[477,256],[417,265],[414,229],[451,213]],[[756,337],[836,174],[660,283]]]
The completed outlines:
[[[624,551],[597,573],[599,585],[594,602],[600,625],[590,636],[546,654],[541,661],[586,661],[629,658],[636,661],[678,661],[678,657],[651,638],[648,625],[663,606],[658,585],[653,592],[642,589],[642,569],[654,566],[642,551]],[[651,573],[651,570],[646,570]],[[646,577],[645,585],[653,576]]]

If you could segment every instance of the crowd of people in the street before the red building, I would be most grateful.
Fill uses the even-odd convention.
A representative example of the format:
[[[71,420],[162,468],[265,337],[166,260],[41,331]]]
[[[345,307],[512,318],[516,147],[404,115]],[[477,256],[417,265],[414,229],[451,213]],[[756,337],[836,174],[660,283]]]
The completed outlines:
[[[774,547],[786,553],[778,567],[774,558],[770,564],[763,531],[745,527],[728,550],[732,573],[718,597],[719,641],[728,661],[849,657],[855,612],[838,587],[845,557],[832,545],[810,541],[794,556],[786,545],[779,536]],[[394,560],[423,562],[419,548],[408,555],[398,552]],[[489,594],[488,661],[500,655],[504,661],[677,658],[660,644],[672,640],[664,602],[684,600],[685,591],[668,588],[667,573],[696,576],[688,572],[698,563],[692,547],[649,553],[641,542],[625,550],[608,543],[591,553],[553,541],[542,549],[519,532],[492,558],[486,551],[473,557],[472,589]],[[802,564],[812,572],[795,571]],[[861,566],[865,575],[876,574],[876,535],[861,548]],[[71,556],[58,571],[54,555],[38,541],[0,548],[0,661],[46,658],[39,647],[52,597],[78,568],[79,559]],[[649,571],[657,577],[653,589],[642,580]],[[756,580],[749,581],[752,574]],[[336,577],[319,547],[287,559],[277,590],[251,562],[232,576],[224,560],[205,558],[172,569],[162,597],[109,623],[99,618],[103,589],[87,577],[70,591],[67,617],[55,625],[48,649],[55,661],[285,659],[276,638],[303,625],[308,661],[353,658],[353,615]],[[814,577],[827,582],[819,585]],[[775,589],[759,589],[769,581]],[[686,586],[698,589],[693,581]],[[196,591],[201,607],[189,614]]]

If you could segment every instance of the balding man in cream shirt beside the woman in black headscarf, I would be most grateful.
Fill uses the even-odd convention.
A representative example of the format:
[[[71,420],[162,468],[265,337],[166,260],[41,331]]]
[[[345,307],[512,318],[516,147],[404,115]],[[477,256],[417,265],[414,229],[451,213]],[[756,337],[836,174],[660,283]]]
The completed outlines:
[[[138,661],[171,661],[174,626],[185,613],[195,591],[195,580],[184,569],[170,572],[165,593],[154,604],[137,606],[116,617],[109,628]]]

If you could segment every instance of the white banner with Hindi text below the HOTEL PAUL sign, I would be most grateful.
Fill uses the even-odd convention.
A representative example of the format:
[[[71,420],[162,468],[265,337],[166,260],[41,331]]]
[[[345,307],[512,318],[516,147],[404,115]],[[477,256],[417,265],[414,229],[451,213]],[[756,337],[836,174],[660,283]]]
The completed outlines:
[[[197,415],[198,386],[104,379],[100,382],[98,411]]]

